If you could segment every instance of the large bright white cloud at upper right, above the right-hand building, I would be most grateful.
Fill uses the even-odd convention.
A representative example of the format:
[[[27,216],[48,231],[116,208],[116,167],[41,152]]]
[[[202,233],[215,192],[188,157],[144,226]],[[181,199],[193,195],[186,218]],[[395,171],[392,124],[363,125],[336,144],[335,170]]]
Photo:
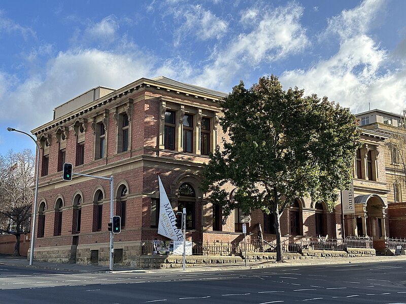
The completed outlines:
[[[404,66],[389,70],[390,57],[368,36],[382,2],[365,1],[353,10],[331,18],[323,38],[339,34],[340,49],[308,70],[288,70],[281,76],[287,87],[298,86],[306,94],[317,93],[350,107],[353,112],[371,108],[400,112],[406,106]]]

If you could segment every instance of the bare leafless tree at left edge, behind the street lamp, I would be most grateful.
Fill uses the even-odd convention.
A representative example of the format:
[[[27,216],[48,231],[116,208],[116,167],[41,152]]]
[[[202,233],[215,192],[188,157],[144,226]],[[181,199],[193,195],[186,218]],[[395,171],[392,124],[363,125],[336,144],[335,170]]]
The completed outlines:
[[[31,150],[0,155],[0,232],[16,237],[14,256],[20,256],[20,237],[30,232],[35,161]]]

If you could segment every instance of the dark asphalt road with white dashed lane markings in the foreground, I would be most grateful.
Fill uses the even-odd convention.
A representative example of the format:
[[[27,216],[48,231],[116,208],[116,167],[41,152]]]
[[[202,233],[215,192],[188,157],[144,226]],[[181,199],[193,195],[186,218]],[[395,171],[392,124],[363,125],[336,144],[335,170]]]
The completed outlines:
[[[73,274],[0,265],[0,303],[406,303],[402,262]]]

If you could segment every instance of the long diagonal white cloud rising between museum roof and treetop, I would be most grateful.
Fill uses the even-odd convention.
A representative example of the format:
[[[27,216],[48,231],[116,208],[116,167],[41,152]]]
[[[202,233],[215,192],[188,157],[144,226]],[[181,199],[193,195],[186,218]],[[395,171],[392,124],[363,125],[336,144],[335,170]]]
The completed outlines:
[[[259,64],[302,52],[310,44],[299,23],[302,12],[303,8],[295,3],[276,9],[263,8],[253,30],[231,38],[225,49],[215,49],[211,62],[193,83],[230,91],[235,75],[240,77]]]

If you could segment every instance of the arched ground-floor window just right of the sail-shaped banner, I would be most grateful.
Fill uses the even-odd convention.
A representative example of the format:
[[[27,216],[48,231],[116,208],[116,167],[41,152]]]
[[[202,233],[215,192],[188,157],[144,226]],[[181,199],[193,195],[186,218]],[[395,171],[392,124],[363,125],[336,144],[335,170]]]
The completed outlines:
[[[196,193],[189,183],[183,183],[178,190],[178,212],[186,208],[186,229],[196,229]]]

